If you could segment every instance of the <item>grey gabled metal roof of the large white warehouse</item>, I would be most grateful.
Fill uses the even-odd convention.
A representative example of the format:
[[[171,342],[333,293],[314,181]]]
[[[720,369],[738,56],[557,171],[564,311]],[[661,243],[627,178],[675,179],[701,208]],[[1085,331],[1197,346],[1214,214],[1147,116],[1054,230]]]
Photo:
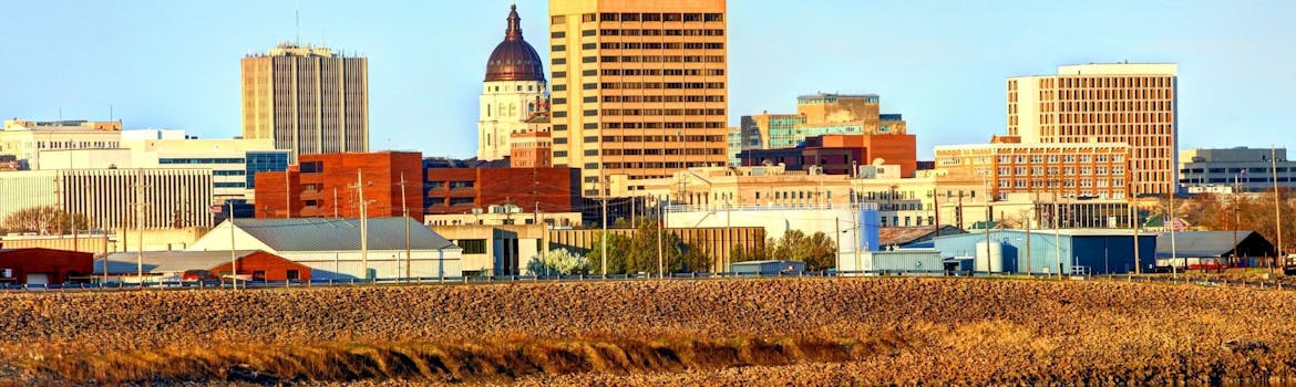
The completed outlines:
[[[459,249],[411,217],[369,217],[369,250],[404,250],[406,224],[412,250]],[[235,225],[275,251],[360,250],[355,217],[236,219]]]

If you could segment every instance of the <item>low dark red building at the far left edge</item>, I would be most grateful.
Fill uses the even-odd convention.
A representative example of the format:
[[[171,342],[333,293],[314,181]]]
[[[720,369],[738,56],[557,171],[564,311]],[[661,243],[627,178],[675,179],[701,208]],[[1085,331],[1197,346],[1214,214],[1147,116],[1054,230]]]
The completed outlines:
[[[49,285],[82,281],[93,255],[52,249],[0,249],[0,283]]]

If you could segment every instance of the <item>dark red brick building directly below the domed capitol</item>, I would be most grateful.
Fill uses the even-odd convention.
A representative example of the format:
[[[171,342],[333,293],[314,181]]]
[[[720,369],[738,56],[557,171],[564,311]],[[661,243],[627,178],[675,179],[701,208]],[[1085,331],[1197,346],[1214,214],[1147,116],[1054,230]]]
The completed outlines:
[[[468,214],[513,205],[525,212],[577,212],[581,171],[575,168],[429,167],[426,214]]]

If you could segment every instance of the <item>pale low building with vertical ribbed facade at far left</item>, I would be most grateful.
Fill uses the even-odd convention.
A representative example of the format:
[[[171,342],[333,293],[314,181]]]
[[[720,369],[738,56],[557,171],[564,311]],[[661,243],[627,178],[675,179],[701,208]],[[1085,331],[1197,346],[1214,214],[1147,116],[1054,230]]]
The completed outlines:
[[[52,206],[95,230],[211,227],[211,170],[57,170],[0,173],[0,219]]]

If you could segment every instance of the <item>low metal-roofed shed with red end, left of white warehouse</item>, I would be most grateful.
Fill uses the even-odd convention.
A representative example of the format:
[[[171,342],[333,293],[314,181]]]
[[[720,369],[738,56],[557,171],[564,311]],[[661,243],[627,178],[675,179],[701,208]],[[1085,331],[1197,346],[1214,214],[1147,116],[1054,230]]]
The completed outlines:
[[[238,264],[240,280],[251,281],[310,281],[311,268],[259,250],[235,251],[145,251],[117,252],[106,263],[95,267],[95,274],[104,276],[108,267],[109,281],[215,281],[229,277],[231,265]]]

